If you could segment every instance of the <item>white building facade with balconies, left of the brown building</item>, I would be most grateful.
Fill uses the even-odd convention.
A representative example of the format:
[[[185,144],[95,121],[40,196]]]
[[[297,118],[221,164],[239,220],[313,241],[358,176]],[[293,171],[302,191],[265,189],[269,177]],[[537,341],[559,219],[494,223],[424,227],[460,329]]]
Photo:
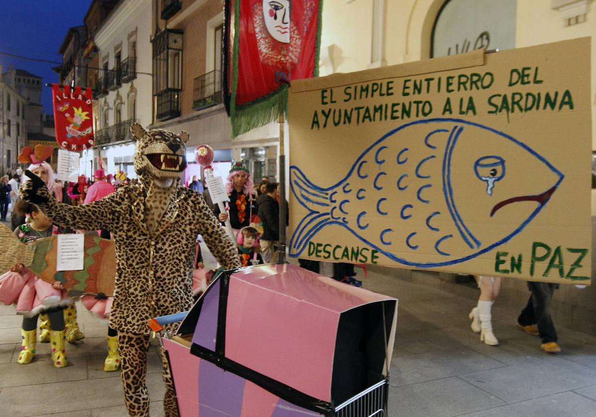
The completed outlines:
[[[132,123],[151,124],[151,1],[122,0],[93,37],[100,70],[95,81],[95,147],[110,173],[136,178]],[[92,81],[92,79],[91,79]],[[89,164],[86,164],[89,166]]]

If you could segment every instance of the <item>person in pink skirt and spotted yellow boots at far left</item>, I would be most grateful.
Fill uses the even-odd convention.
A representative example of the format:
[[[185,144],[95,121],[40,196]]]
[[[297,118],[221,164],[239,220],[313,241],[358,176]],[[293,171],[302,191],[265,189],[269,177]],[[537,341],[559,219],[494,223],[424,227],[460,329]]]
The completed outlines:
[[[20,225],[14,231],[21,242],[29,243],[57,234],[52,220],[41,213],[35,204],[19,200],[15,210],[27,214],[32,219],[30,223]],[[60,281],[49,284],[30,272],[23,264],[18,263],[10,271],[0,275],[0,303],[15,304],[17,314],[23,315],[18,363],[30,363],[35,356],[38,316],[43,312],[49,320],[49,339],[52,344],[54,366],[64,368],[67,365],[63,310],[65,306],[74,302],[75,298],[67,297]]]

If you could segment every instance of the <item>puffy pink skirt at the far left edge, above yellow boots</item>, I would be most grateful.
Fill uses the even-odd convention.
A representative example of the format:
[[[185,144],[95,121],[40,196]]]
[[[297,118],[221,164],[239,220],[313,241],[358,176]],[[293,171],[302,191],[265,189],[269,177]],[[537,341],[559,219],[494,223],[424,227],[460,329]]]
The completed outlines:
[[[51,307],[69,306],[76,300],[28,270],[0,275],[0,303],[16,304],[17,314],[32,317]]]

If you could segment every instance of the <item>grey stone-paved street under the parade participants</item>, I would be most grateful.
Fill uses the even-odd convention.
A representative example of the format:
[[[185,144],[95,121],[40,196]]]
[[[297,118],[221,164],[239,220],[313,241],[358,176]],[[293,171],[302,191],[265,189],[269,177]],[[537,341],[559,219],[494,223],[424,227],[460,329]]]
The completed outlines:
[[[493,325],[501,344],[487,346],[468,323],[476,291],[465,291],[466,298],[377,272],[364,282],[399,298],[390,416],[596,417],[596,337],[558,328],[563,352],[545,354],[538,338],[516,328],[517,312],[497,301]],[[55,369],[48,344],[38,344],[29,365],[15,362],[21,318],[13,306],[0,306],[1,416],[127,415],[119,373],[103,372],[107,323],[77,309],[86,338],[68,344],[69,366]],[[151,416],[162,416],[155,346],[148,362]]]

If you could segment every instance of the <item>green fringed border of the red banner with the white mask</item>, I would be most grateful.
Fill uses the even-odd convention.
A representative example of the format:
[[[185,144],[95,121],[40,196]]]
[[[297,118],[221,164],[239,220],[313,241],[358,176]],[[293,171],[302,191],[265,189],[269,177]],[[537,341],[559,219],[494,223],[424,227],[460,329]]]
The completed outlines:
[[[277,90],[241,106],[236,105],[236,91],[238,87],[238,54],[240,53],[240,1],[234,1],[234,48],[232,52],[232,95],[230,98],[230,119],[232,124],[232,138],[249,132],[256,127],[279,119],[287,113],[288,86],[281,85]],[[316,28],[315,68],[313,75],[319,76],[319,55],[321,53],[323,2],[319,1],[319,13]]]

